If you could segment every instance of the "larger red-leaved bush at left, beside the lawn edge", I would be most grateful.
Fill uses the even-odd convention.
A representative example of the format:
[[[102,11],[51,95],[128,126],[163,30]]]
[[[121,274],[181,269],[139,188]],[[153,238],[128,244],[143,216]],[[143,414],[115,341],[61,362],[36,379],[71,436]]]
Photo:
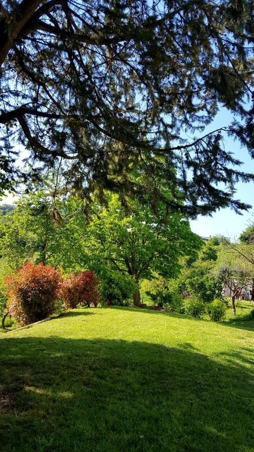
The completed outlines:
[[[7,309],[22,325],[43,320],[56,310],[61,273],[31,262],[5,278]]]

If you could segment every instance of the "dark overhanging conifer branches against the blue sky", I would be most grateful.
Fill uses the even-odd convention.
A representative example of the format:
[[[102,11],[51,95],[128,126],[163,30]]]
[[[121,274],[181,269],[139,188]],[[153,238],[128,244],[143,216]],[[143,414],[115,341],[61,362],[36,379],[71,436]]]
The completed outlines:
[[[246,208],[233,186],[253,176],[223,137],[253,156],[251,0],[3,0],[0,14],[2,192],[61,162],[84,195],[164,199],[193,217]],[[221,106],[235,120],[207,133]]]

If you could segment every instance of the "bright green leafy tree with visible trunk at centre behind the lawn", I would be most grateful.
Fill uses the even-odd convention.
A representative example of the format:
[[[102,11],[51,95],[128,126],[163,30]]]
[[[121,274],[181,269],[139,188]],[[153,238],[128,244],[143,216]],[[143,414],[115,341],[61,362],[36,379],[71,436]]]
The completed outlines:
[[[108,195],[107,207],[94,204],[83,233],[90,268],[96,265],[99,271],[99,267],[106,265],[129,274],[138,285],[142,278],[152,278],[153,271],[174,277],[180,271],[180,257],[194,254],[201,246],[189,222],[179,214],[165,218],[163,204],[158,206],[157,216],[135,201],[129,201],[128,209],[117,195]],[[139,290],[134,294],[134,304],[140,305]]]

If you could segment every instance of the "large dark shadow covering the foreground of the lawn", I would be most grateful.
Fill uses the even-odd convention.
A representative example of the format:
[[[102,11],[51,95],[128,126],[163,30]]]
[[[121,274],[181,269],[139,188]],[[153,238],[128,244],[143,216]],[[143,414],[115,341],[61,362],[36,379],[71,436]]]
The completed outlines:
[[[243,353],[222,364],[179,347],[3,338],[2,450],[250,450]]]

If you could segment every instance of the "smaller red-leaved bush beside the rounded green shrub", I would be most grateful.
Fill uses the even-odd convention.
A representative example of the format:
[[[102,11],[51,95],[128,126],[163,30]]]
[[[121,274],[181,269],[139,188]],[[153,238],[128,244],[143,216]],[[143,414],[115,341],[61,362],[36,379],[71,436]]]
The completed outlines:
[[[98,285],[100,281],[92,271],[78,272],[63,279],[59,290],[59,296],[64,302],[64,307],[75,308],[78,304],[90,307],[93,303],[97,306],[100,300]]]

